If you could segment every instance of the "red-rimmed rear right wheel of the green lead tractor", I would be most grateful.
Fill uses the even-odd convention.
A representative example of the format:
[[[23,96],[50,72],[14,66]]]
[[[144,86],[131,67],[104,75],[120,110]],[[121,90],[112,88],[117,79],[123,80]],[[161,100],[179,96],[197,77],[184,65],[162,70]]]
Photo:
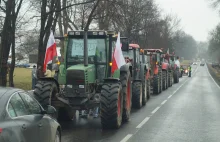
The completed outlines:
[[[121,72],[120,80],[122,84],[122,94],[123,94],[123,114],[122,120],[124,122],[129,121],[131,115],[131,106],[132,106],[132,84],[131,84],[131,75],[130,73]]]

